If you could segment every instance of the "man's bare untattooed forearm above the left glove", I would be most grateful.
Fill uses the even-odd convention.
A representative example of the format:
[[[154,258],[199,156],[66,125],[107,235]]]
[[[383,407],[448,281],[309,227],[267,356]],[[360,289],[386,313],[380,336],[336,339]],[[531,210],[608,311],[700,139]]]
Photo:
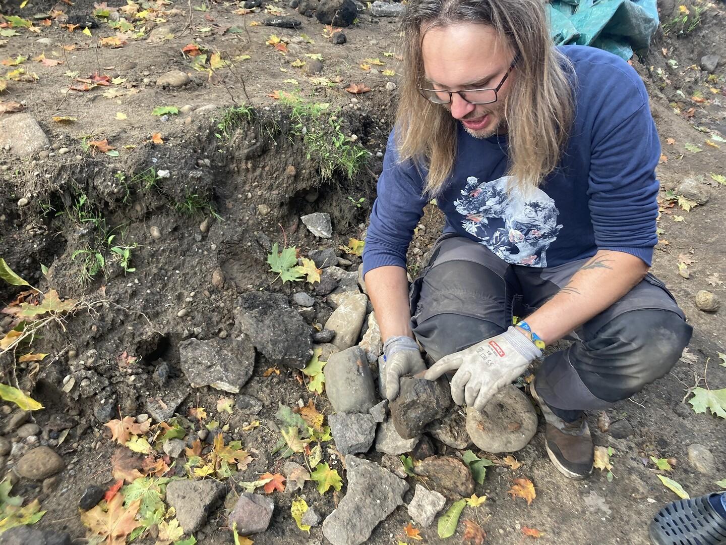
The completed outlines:
[[[406,270],[395,265],[377,267],[366,273],[365,283],[383,342],[392,336],[412,337]]]

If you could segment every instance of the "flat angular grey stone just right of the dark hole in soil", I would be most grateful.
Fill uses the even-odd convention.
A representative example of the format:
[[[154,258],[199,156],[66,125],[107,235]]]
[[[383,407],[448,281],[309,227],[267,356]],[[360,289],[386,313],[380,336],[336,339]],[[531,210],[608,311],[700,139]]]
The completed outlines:
[[[194,388],[211,386],[236,394],[252,376],[255,349],[250,339],[187,339],[179,343],[181,370]]]

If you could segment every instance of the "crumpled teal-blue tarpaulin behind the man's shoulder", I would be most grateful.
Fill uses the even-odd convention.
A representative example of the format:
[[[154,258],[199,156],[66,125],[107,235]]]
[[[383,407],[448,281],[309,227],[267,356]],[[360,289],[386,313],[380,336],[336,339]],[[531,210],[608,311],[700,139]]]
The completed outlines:
[[[644,55],[658,28],[656,0],[551,0],[555,44],[589,45],[628,60]]]

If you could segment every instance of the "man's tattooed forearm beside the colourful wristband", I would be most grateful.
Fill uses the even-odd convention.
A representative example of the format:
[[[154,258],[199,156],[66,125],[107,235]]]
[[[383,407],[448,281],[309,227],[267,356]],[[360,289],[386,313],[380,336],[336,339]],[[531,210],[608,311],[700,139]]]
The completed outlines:
[[[526,321],[545,344],[550,344],[610,307],[646,273],[648,265],[639,257],[600,250]]]

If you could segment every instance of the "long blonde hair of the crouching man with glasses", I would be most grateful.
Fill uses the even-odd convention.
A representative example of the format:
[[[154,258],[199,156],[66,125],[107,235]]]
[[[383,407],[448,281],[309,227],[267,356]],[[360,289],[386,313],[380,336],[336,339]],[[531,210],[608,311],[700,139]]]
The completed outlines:
[[[424,74],[423,31],[457,23],[491,26],[518,57],[505,100],[507,175],[521,190],[531,190],[558,166],[574,117],[571,65],[552,44],[542,0],[411,1],[401,22],[406,69],[396,113],[399,159],[428,169],[426,195],[444,190],[456,156],[457,120],[422,97],[417,86]]]

